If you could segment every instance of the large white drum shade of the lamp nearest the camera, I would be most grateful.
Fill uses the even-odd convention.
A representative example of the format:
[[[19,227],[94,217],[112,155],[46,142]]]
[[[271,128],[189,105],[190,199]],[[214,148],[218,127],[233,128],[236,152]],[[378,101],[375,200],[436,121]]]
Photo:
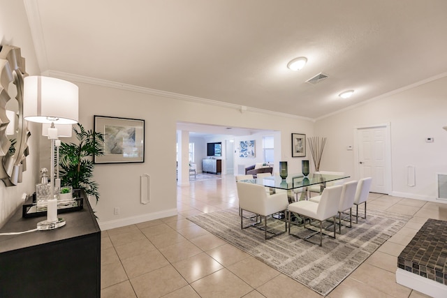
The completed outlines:
[[[78,123],[78,86],[54,77],[24,78],[23,116],[31,122]]]

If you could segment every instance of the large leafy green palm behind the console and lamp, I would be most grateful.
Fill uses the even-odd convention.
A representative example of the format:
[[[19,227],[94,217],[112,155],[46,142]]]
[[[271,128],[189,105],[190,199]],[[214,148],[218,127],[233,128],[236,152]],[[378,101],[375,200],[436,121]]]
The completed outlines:
[[[93,130],[86,131],[82,124],[73,127],[77,142],[61,143],[59,167],[61,185],[82,189],[87,195],[99,200],[98,184],[93,181],[93,156],[103,155],[104,135]]]

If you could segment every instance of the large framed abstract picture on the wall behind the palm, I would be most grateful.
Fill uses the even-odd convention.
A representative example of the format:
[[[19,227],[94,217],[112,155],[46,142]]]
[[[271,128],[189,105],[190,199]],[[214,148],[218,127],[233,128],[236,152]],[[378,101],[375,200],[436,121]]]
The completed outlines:
[[[94,130],[103,133],[104,147],[94,163],[144,163],[145,121],[94,116]]]

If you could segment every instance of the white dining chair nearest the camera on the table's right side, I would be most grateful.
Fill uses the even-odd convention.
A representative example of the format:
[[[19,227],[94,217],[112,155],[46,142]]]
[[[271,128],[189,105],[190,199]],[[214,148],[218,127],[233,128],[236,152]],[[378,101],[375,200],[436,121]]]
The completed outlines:
[[[288,234],[291,234],[291,214],[298,214],[307,218],[312,218],[320,223],[320,246],[323,245],[323,221],[328,218],[333,218],[334,223],[338,213],[340,198],[342,195],[342,186],[329,186],[321,193],[321,200],[319,203],[302,200],[288,205]],[[304,228],[306,228],[306,221],[304,221]],[[334,238],[335,238],[335,224],[334,224]],[[314,233],[318,234],[318,232]],[[313,236],[310,235],[309,237]],[[308,239],[307,237],[306,239]]]

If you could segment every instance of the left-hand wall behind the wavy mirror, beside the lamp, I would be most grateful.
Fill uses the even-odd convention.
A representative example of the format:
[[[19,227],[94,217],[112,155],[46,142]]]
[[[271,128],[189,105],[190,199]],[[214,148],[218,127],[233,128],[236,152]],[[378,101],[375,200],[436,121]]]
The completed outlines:
[[[25,58],[25,70],[29,75],[40,73],[34,46],[31,40],[27,15],[23,1],[0,0],[0,43],[1,45],[15,45],[20,47],[22,57]],[[29,125],[29,156],[27,157],[27,171],[23,173],[23,182],[17,186],[6,187],[0,181],[0,227],[6,222],[13,211],[22,204],[22,193],[34,193],[36,177],[38,177],[38,127]]]

